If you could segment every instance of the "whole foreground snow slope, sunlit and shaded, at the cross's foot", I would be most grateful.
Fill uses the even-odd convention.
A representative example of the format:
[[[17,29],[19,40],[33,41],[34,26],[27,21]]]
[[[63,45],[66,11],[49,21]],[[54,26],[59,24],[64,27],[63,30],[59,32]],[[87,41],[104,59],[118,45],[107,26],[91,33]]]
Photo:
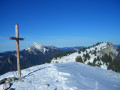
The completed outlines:
[[[120,90],[120,73],[78,62],[51,63],[22,70],[15,90]],[[0,76],[11,77],[12,73]]]

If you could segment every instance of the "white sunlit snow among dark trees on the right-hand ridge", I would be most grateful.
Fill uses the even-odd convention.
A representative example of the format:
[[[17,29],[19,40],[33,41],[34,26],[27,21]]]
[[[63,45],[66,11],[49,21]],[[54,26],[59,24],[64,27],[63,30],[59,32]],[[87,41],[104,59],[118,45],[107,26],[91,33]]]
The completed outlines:
[[[109,49],[109,50],[108,50]],[[96,55],[93,54],[93,52],[96,51]],[[104,52],[103,52],[104,51]],[[106,52],[105,52],[106,51]],[[113,53],[113,54],[118,54],[118,51],[116,51],[116,48],[111,44],[111,43],[108,43],[108,42],[104,42],[104,43],[101,43],[101,44],[98,44],[96,46],[92,46],[90,48],[87,48],[85,51],[81,51],[81,53],[73,53],[73,54],[70,54],[70,55],[67,55],[67,56],[63,56],[61,58],[53,58],[51,63],[65,63],[65,62],[76,62],[76,58],[78,56],[81,56],[82,57],[82,60],[83,60],[83,63],[84,64],[88,64],[88,63],[93,63],[94,62],[94,59],[97,59],[97,57],[99,56],[100,58],[106,53],[110,53],[110,51]],[[89,54],[90,56],[90,59],[87,59],[86,61],[84,60],[84,55],[86,54]],[[98,63],[101,63],[100,67],[107,70],[108,68],[108,65],[106,65],[106,63],[103,63],[102,60],[100,61],[96,61],[96,65]]]

